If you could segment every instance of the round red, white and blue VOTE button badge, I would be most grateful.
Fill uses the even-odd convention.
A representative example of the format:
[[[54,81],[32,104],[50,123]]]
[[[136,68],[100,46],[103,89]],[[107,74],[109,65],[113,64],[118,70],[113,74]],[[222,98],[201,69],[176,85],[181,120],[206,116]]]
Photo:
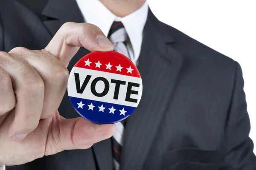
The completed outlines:
[[[67,91],[73,108],[84,119],[97,124],[116,123],[137,108],[142,80],[128,57],[115,51],[95,51],[73,67]]]

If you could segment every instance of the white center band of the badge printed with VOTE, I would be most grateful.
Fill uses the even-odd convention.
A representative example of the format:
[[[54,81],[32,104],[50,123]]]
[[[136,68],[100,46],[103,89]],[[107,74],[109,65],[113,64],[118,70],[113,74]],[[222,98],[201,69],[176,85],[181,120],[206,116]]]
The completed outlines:
[[[116,84],[111,83],[111,80],[113,79],[113,73],[90,70],[87,68],[78,68],[78,67],[74,67],[72,70],[73,70],[73,74],[70,74],[70,78],[69,78],[70,87],[68,88],[68,94],[71,97],[77,97],[80,99],[96,100],[96,101],[100,101],[100,102],[115,103],[118,105],[125,105],[125,106],[131,106],[131,107],[137,107],[137,105],[140,102],[142,86],[140,86],[140,88],[132,87],[132,89],[131,89],[133,91],[139,91],[138,94],[131,94],[131,98],[138,100],[137,103],[129,102],[129,101],[125,100],[127,89],[128,89],[128,82],[140,82],[140,84],[142,84],[142,80],[139,77],[131,77],[131,76],[125,76],[125,75],[120,75],[120,74],[114,74],[114,76],[115,76],[114,79],[118,79],[119,81],[126,82],[125,85],[119,86],[119,93],[118,93],[118,100],[117,100],[117,99],[113,99],[113,94],[114,94],[114,91],[116,88]],[[82,83],[84,82],[86,77],[91,76],[91,78],[88,81],[88,84],[82,94],[79,94],[76,91],[76,82],[75,82],[74,73],[86,73],[86,74],[79,74],[80,87],[82,86]],[[98,96],[93,95],[91,92],[91,84],[92,84],[93,80],[97,77],[97,75],[101,75],[101,77],[104,77],[105,79],[108,80],[109,91],[108,91],[108,94],[106,94],[105,96],[98,97]],[[102,91],[104,91],[104,88],[105,88],[105,85],[102,81],[97,82],[95,85],[95,89],[98,93],[102,93]],[[122,111],[121,113],[124,114],[125,111]]]

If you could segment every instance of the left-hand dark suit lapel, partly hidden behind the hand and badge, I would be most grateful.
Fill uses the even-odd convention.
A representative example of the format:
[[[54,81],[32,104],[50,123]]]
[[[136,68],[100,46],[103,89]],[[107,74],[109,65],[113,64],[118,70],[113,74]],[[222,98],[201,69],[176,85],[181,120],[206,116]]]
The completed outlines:
[[[49,32],[52,36],[58,31],[58,29],[66,22],[75,22],[75,23],[84,23],[84,17],[81,14],[81,11],[76,3],[76,0],[49,0],[47,5],[45,6],[43,15],[48,17],[48,20],[44,21],[45,26],[48,28]],[[68,65],[68,69],[71,70],[76,62],[88,54],[88,51],[85,48],[80,48],[77,54],[73,57]],[[66,103],[70,103],[68,101],[67,93],[64,96],[63,110],[67,110]],[[77,117],[79,116],[73,108],[68,109],[72,110],[72,112],[67,113],[66,117]],[[102,142],[93,145],[94,156],[96,157],[96,161],[98,163],[98,167],[100,170],[112,170],[113,169],[113,161],[112,161],[112,151],[111,151],[111,140],[107,139]]]

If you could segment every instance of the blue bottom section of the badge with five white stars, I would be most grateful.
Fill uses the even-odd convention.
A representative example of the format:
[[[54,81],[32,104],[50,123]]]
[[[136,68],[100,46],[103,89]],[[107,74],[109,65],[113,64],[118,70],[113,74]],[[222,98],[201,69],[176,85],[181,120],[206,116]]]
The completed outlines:
[[[76,110],[77,113],[80,114],[80,116],[90,122],[97,124],[113,124],[120,122],[130,116],[131,113],[133,113],[136,109],[135,107],[81,99],[77,97],[69,96],[69,98],[71,104],[73,105],[73,108]],[[90,107],[88,105],[90,105]],[[102,110],[103,108],[105,108],[103,110],[104,112],[100,111],[99,107],[101,107]],[[93,110],[91,110],[90,108],[93,108]],[[113,109],[115,109],[115,111]],[[111,111],[113,111],[114,113],[110,113]],[[121,113],[124,113],[125,115]]]

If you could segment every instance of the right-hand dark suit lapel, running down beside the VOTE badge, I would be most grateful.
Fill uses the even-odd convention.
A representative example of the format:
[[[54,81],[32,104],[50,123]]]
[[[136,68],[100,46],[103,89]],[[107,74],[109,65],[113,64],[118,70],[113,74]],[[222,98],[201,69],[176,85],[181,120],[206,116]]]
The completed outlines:
[[[174,43],[172,37],[158,28],[161,24],[149,10],[138,65],[143,94],[139,106],[128,118],[120,170],[142,168],[183,64],[182,55],[170,46]]]

